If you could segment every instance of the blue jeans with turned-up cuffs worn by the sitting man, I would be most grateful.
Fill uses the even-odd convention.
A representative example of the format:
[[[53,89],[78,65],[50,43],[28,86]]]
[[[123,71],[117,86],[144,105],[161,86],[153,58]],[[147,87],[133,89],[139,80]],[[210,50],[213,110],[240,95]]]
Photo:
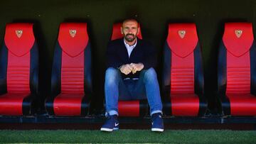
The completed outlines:
[[[122,79],[118,69],[109,67],[105,74],[106,115],[118,115],[118,100],[146,99],[150,115],[162,113],[159,83],[154,68],[142,70],[139,79]]]

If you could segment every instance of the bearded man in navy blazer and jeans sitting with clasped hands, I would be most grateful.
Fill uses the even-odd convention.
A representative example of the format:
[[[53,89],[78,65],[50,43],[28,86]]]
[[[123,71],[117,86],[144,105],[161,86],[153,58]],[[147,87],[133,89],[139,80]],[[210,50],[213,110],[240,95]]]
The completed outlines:
[[[105,102],[107,121],[101,131],[119,129],[118,99],[147,99],[150,106],[151,131],[164,131],[162,104],[154,66],[156,52],[152,45],[137,38],[139,24],[134,19],[122,23],[124,38],[107,46]]]

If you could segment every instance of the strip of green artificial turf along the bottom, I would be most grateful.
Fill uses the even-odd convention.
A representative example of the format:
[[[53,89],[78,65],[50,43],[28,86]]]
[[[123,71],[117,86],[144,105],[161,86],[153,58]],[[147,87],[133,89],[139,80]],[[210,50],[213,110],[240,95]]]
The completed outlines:
[[[0,131],[0,143],[256,143],[256,131]]]

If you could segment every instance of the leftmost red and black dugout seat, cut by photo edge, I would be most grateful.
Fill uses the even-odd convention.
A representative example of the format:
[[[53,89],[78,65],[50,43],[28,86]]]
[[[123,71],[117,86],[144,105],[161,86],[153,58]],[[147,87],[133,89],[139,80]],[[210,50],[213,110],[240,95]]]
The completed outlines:
[[[38,45],[33,23],[6,25],[0,64],[0,115],[33,114],[38,94]]]

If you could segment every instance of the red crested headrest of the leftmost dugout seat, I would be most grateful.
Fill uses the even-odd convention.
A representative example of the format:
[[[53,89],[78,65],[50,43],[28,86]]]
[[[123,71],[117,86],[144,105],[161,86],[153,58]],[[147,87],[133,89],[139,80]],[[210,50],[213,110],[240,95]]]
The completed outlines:
[[[6,48],[14,55],[18,57],[26,55],[35,43],[33,23],[7,24],[4,43]]]

